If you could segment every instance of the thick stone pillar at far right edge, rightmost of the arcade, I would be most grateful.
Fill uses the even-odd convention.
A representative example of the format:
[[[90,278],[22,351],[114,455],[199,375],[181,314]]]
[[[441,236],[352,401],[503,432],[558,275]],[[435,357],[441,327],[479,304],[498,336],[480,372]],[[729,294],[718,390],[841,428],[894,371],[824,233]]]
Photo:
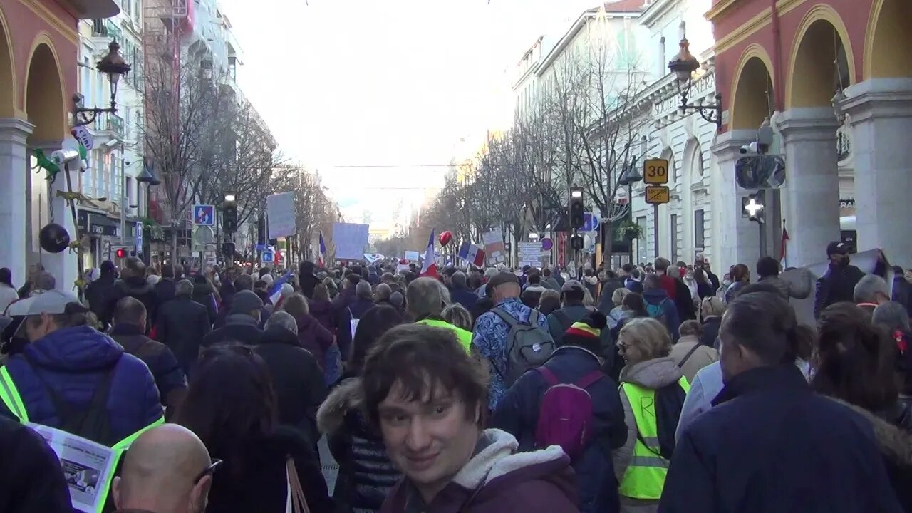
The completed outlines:
[[[884,249],[890,263],[912,267],[912,79],[869,79],[845,89],[852,126],[858,250]]]

